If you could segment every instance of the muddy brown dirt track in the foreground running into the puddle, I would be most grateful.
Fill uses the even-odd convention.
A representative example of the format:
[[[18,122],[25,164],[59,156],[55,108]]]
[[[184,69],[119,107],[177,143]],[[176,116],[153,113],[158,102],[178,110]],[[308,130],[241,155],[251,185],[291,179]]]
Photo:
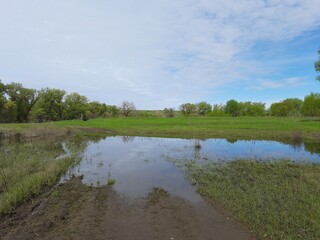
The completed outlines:
[[[213,207],[192,206],[154,189],[127,200],[111,187],[72,179],[0,221],[1,239],[253,239]]]

